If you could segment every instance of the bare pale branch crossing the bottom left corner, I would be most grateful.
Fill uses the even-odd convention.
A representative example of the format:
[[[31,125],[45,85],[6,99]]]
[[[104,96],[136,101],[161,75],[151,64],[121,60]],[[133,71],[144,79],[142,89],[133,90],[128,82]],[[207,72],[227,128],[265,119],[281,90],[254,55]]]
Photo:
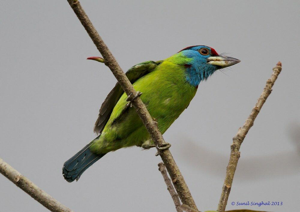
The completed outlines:
[[[72,212],[71,209],[62,205],[52,196],[41,190],[37,185],[35,185],[28,178],[21,175],[16,169],[13,169],[9,164],[0,158],[0,173],[16,184],[17,187],[28,193],[36,201],[44,205],[53,212],[67,211]]]

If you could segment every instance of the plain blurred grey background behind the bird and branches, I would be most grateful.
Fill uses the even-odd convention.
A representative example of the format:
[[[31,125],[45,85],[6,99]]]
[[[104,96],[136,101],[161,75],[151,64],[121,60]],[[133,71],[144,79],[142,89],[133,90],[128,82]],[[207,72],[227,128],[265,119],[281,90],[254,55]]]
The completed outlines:
[[[82,1],[127,70],[203,44],[241,63],[199,85],[164,134],[201,211],[219,201],[230,144],[272,67],[283,71],[241,146],[231,202],[298,211],[300,162],[299,1]],[[99,107],[116,79],[67,1],[0,2],[0,157],[75,211],[175,211],[155,149],[107,154],[78,182],[63,163],[95,138]],[[228,76],[227,76],[228,75]],[[0,176],[0,211],[47,211]]]

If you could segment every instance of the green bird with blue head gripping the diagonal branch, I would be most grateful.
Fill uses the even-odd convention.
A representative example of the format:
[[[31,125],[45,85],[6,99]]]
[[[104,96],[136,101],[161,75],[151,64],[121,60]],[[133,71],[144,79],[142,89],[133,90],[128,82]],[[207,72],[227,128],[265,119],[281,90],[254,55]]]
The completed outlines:
[[[88,59],[99,60],[97,57]],[[218,55],[209,46],[189,46],[165,60],[137,64],[126,76],[134,89],[143,93],[140,98],[164,133],[190,104],[201,81],[216,70],[238,62],[238,59]],[[155,147],[134,107],[126,99],[127,95],[117,83],[100,108],[94,128],[99,136],[64,163],[63,176],[68,182],[78,180],[108,152],[131,146]]]

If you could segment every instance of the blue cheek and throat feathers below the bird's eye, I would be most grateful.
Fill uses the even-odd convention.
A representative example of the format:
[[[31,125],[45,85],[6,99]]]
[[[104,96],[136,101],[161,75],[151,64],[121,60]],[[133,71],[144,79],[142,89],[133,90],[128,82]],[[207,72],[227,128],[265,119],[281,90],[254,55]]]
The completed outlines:
[[[217,70],[216,66],[207,63],[206,58],[209,56],[202,56],[193,50],[184,50],[182,53],[187,58],[193,58],[185,64],[186,80],[190,85],[197,87],[202,80],[206,80]]]

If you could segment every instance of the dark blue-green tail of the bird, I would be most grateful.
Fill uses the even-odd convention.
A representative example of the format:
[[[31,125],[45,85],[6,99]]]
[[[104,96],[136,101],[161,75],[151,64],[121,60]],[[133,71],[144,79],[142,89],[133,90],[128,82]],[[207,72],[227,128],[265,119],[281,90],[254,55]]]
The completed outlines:
[[[105,154],[96,154],[90,151],[90,145],[86,145],[77,154],[64,163],[62,167],[62,175],[68,182],[78,181],[82,173]]]

